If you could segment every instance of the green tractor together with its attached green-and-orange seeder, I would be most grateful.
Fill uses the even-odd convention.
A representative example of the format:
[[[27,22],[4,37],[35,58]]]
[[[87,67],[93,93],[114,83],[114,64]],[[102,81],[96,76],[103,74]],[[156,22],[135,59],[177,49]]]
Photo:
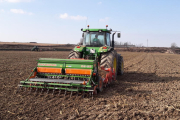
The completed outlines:
[[[39,58],[29,77],[20,81],[17,92],[25,88],[30,92],[46,90],[64,96],[67,92],[70,96],[76,92],[78,96],[80,92],[83,97],[85,93],[93,97],[116,80],[117,74],[122,75],[123,57],[114,50],[117,31],[89,28],[82,31],[82,43],[70,52],[68,59]],[[120,38],[120,33],[117,37]]]

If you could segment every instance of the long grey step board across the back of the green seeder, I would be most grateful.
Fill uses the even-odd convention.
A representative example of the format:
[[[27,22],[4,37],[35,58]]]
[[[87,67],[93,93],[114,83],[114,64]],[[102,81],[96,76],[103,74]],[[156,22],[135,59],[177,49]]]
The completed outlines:
[[[29,81],[33,82],[55,82],[55,83],[74,83],[74,84],[82,84],[84,81],[82,80],[69,80],[69,79],[48,79],[48,78],[31,78]]]

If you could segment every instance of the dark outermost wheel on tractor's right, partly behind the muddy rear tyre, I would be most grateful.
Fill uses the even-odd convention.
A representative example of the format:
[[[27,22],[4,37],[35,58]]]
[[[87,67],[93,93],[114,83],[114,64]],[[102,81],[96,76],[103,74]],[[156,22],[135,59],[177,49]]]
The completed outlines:
[[[118,69],[117,69],[117,74],[118,75],[123,75],[124,73],[124,61],[123,57],[118,54]]]

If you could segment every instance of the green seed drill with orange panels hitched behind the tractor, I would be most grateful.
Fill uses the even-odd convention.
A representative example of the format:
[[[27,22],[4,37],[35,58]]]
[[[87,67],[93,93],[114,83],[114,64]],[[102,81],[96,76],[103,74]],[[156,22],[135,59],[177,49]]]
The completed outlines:
[[[71,91],[71,95],[72,92],[90,92],[93,95],[101,91],[102,84],[96,60],[40,58],[30,76],[20,81],[19,88],[47,90],[47,93],[53,90],[52,94],[55,90],[61,94],[63,90],[64,94]]]

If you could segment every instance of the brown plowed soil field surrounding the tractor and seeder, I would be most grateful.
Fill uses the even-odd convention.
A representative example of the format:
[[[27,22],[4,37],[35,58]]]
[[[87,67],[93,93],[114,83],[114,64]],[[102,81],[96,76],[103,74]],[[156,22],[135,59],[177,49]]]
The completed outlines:
[[[180,55],[122,52],[125,73],[94,99],[15,94],[38,58],[69,52],[0,52],[0,119],[180,119]]]

